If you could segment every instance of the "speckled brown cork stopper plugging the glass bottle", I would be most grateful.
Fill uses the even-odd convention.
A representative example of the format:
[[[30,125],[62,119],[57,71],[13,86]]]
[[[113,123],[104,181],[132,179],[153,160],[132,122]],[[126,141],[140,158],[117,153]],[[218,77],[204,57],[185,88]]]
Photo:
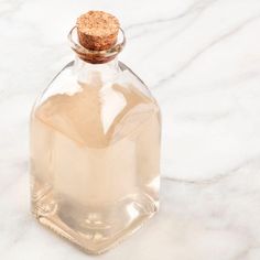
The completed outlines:
[[[117,42],[119,21],[110,13],[89,11],[77,19],[79,43],[93,51],[104,51]]]

